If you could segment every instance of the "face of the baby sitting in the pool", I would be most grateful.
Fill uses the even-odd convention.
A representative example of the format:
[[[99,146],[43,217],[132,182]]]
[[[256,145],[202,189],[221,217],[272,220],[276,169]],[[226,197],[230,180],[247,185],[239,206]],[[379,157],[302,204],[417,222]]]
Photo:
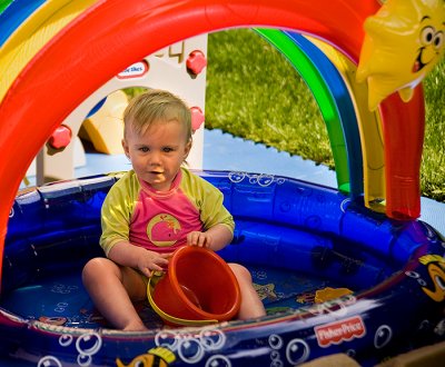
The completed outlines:
[[[170,189],[191,148],[184,123],[177,120],[155,121],[141,133],[129,128],[122,145],[139,179],[158,191]]]

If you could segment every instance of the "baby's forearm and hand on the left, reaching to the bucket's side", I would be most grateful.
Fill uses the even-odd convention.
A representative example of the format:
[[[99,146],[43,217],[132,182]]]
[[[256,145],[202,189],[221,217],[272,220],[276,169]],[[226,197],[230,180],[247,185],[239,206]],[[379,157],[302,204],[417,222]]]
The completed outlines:
[[[152,271],[165,270],[171,254],[158,254],[128,241],[119,241],[108,252],[108,258],[119,265],[140,270],[150,277]]]

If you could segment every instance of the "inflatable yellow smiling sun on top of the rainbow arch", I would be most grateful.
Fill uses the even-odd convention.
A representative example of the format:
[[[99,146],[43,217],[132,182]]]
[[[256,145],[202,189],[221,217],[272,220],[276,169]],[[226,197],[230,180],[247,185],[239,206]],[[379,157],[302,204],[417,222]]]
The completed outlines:
[[[369,110],[397,91],[403,101],[444,53],[443,0],[388,0],[365,21],[357,81],[367,80]]]

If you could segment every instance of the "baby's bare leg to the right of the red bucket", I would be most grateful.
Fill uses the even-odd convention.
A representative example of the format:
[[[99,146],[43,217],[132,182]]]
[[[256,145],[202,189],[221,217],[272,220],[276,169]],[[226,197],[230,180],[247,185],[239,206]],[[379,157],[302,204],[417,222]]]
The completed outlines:
[[[241,290],[241,306],[239,308],[238,318],[240,320],[246,320],[265,316],[266,310],[254,288],[249,270],[239,264],[229,264],[229,267],[234,271]]]

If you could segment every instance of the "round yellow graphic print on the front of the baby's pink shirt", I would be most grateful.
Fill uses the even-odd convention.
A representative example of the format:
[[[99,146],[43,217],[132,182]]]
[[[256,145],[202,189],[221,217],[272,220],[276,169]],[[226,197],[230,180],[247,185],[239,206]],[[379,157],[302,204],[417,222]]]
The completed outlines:
[[[158,247],[174,246],[180,237],[181,226],[174,216],[158,214],[147,225],[147,236]]]

